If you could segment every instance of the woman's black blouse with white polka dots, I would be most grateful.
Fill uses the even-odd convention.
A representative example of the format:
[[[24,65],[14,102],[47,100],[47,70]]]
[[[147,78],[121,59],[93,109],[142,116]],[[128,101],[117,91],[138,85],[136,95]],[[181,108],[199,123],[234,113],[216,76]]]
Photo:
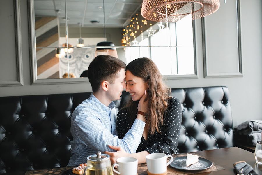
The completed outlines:
[[[159,134],[157,131],[153,135],[148,133],[147,140],[142,136],[141,142],[136,152],[146,150],[148,153],[165,153],[176,154],[176,148],[180,136],[180,127],[182,122],[182,111],[180,101],[171,97],[168,100],[168,108],[164,114],[164,125],[160,127]],[[149,116],[148,116],[149,117]],[[132,127],[128,110],[121,109],[117,114],[116,129],[119,139],[123,139],[128,130]]]

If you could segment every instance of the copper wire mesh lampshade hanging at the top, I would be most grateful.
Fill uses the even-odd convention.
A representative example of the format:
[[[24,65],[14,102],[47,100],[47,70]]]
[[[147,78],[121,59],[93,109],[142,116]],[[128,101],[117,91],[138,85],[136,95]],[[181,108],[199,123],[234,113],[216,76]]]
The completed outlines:
[[[192,14],[192,20],[218,10],[219,0],[143,0],[141,15],[151,21],[177,22]]]

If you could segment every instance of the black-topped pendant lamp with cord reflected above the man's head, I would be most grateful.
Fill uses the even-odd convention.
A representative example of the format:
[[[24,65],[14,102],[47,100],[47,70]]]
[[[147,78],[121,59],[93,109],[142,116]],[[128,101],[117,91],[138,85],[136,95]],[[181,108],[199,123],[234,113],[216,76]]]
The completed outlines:
[[[103,0],[103,11],[104,11],[104,37],[105,41],[97,43],[96,46],[107,46],[106,48],[96,48],[95,57],[98,55],[111,55],[113,57],[118,58],[116,48],[114,47],[114,43],[106,41],[106,33],[105,33],[105,0]]]

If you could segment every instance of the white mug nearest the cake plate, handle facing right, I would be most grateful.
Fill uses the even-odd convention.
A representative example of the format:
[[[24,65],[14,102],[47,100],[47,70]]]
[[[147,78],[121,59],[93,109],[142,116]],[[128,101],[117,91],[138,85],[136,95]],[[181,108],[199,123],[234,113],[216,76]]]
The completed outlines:
[[[167,158],[171,160],[167,162]],[[161,174],[167,171],[167,166],[173,162],[172,155],[166,155],[165,153],[152,153],[146,156],[146,165],[148,172],[152,174]]]

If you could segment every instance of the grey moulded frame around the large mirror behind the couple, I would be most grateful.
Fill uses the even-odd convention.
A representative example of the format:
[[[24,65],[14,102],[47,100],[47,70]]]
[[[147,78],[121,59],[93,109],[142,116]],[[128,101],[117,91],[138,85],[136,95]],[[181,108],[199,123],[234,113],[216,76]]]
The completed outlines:
[[[56,79],[37,79],[37,64],[36,64],[36,38],[35,38],[35,13],[34,0],[28,0],[28,21],[29,21],[29,42],[30,42],[30,71],[31,85],[47,85],[47,84],[71,84],[71,83],[89,83],[88,78],[56,78]],[[197,70],[197,49],[196,49],[196,24],[192,22],[193,27],[193,48],[194,48],[194,74],[188,75],[163,75],[164,80],[176,79],[195,79],[198,78]],[[68,27],[68,26],[65,26]],[[59,46],[57,46],[59,47]],[[128,46],[127,46],[128,47]]]

